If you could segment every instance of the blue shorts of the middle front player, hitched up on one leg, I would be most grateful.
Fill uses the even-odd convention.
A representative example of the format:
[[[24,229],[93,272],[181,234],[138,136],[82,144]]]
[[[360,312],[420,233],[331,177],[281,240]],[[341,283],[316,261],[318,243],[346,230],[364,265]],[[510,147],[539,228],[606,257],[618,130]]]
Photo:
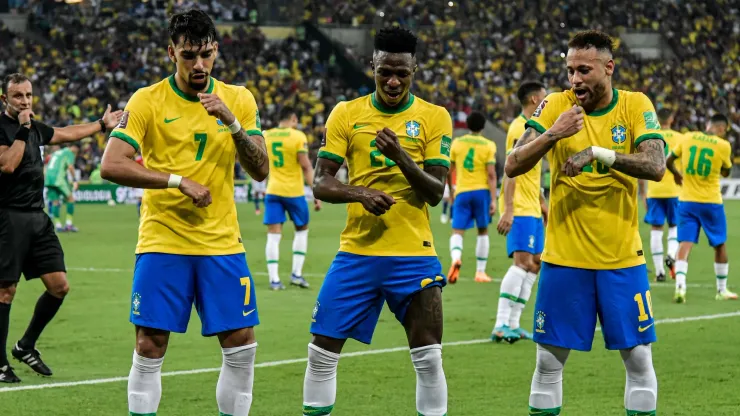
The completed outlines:
[[[311,333],[370,344],[384,302],[403,323],[416,293],[446,284],[436,256],[360,256],[339,252],[319,291]]]

